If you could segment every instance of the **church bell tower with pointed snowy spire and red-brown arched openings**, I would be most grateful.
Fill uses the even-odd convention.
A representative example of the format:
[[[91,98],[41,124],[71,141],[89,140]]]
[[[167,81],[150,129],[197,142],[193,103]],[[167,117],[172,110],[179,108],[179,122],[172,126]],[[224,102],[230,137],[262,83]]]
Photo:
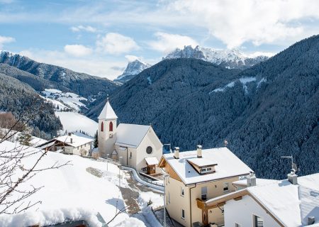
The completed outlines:
[[[118,116],[113,111],[110,101],[106,104],[99,115],[99,154],[101,157],[111,157],[116,143],[116,121]]]

